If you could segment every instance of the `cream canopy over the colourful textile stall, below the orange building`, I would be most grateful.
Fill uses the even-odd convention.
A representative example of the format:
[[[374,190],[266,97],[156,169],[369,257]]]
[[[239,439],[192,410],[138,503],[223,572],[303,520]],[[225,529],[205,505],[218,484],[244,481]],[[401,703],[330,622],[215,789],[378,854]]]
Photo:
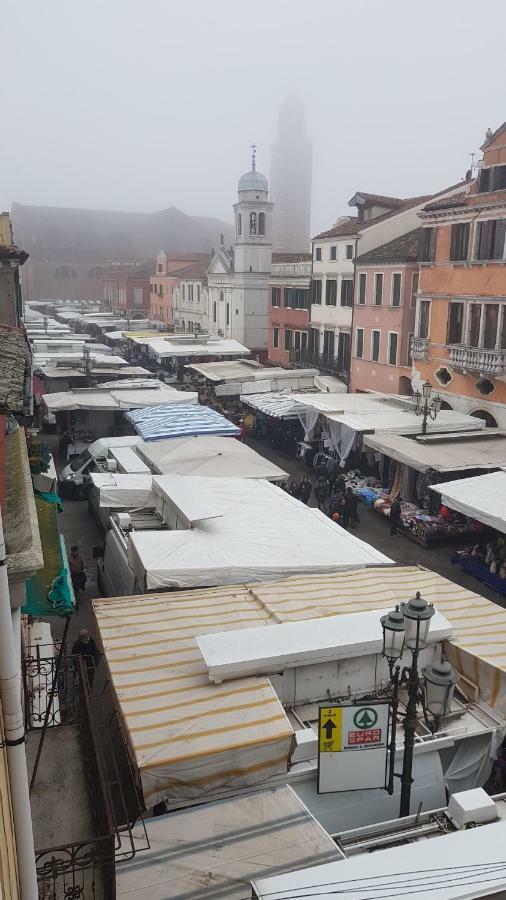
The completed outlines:
[[[463,469],[498,469],[506,466],[506,434],[488,436],[488,429],[462,437],[418,441],[398,434],[364,437],[364,449],[383,453],[419,472],[458,472]]]

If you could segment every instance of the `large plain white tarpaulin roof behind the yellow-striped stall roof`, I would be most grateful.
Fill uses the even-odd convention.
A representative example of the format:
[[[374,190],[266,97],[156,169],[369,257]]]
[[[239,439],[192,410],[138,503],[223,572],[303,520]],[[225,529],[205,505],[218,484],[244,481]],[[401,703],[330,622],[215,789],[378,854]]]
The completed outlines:
[[[157,483],[162,479],[170,496],[169,476],[154,477],[153,490],[160,492]],[[334,572],[391,562],[319,510],[268,481],[187,480],[188,489],[194,482],[221,518],[191,530],[132,532],[129,559],[141,590],[268,581],[297,572]]]

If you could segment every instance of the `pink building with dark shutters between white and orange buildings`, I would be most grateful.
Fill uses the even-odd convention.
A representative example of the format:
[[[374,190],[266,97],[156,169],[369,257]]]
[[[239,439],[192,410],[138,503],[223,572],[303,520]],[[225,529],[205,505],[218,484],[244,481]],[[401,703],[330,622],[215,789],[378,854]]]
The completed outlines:
[[[350,391],[411,393],[420,229],[358,256]]]

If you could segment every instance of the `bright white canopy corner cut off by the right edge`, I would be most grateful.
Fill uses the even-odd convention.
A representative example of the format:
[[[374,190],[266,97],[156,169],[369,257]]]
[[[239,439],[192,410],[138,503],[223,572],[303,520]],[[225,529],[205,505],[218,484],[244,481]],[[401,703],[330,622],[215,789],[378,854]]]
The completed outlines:
[[[506,472],[431,485],[450,509],[506,534]]]

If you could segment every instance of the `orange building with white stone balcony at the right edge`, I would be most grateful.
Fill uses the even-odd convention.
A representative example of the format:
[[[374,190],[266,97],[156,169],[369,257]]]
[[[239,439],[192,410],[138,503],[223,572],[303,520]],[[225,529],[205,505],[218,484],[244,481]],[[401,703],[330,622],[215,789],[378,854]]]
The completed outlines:
[[[478,177],[420,213],[413,386],[506,428],[506,122],[481,149]]]

